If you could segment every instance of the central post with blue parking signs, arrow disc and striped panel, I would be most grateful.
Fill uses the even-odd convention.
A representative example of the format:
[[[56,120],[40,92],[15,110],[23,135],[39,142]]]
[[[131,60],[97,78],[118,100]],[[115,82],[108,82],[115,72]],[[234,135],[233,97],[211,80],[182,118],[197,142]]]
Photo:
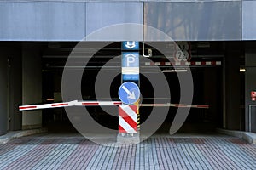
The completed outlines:
[[[137,101],[140,98],[138,85],[139,42],[122,42],[122,84],[119,87],[119,99],[123,104],[119,106],[119,133],[122,136],[126,133],[133,136],[133,133],[137,133]]]

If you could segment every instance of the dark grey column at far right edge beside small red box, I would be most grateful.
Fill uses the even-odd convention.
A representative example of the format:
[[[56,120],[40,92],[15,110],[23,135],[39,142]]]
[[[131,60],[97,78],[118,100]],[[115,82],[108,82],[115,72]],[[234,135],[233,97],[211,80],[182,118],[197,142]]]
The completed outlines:
[[[256,45],[256,44],[255,44]],[[254,46],[255,47],[255,46]],[[251,99],[251,91],[256,91],[256,48],[246,49],[245,54],[245,124],[246,131],[256,133],[256,101]],[[249,112],[249,106],[252,111]]]

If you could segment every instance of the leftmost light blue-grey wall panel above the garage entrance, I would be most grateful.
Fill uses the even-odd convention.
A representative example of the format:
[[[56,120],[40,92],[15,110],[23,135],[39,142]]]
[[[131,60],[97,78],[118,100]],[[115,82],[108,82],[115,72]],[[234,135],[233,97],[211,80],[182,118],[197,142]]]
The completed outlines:
[[[0,23],[2,41],[79,41],[85,3],[1,2]]]

